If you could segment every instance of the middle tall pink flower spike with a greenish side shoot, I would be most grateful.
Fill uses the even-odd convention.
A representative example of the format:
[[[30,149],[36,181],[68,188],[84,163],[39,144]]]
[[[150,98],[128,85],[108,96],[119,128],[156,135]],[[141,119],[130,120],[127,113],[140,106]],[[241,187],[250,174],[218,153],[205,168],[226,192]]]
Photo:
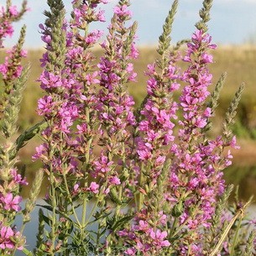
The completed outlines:
[[[119,1],[115,8],[115,13],[112,17],[112,25],[110,26],[109,34],[107,35],[107,42],[102,44],[102,48],[105,50],[105,55],[99,64],[101,70],[100,75],[102,77],[100,83],[102,89],[99,92],[99,97],[101,98],[104,115],[106,114],[105,116],[100,116],[100,120],[103,123],[102,133],[104,133],[104,130],[106,129],[107,136],[112,140],[109,141],[109,144],[103,143],[104,146],[107,147],[105,154],[112,165],[114,164],[112,160],[114,157],[118,156],[122,161],[122,165],[120,166],[122,171],[127,168],[126,154],[128,153],[128,148],[126,147],[126,144],[128,144],[130,137],[128,127],[134,123],[133,113],[129,109],[133,106],[134,102],[132,98],[128,96],[126,84],[128,81],[133,81],[135,78],[133,65],[130,63],[130,60],[134,58],[133,51],[135,50],[133,50],[133,39],[137,29],[137,24],[133,23],[128,28],[125,26],[131,16],[130,11],[128,11],[129,4],[129,1],[122,0]],[[105,69],[104,65],[109,65],[110,69]],[[109,77],[109,81],[107,81],[106,76]],[[110,95],[110,97],[106,100],[105,98],[107,98],[107,95]],[[118,104],[121,105],[120,110],[122,110],[119,114],[117,112]],[[125,104],[129,104],[128,107],[126,107],[127,110],[125,109]],[[120,124],[123,122],[123,134],[120,133],[120,130],[117,130],[116,134],[114,133],[114,127],[120,125],[118,123],[115,124],[115,118],[120,119],[120,121],[118,121]],[[106,138],[100,139],[100,143],[101,141],[103,142],[104,139]],[[116,170],[114,170],[114,166],[112,168],[111,175],[117,175]],[[118,185],[117,187],[113,186],[113,191],[116,189],[118,195],[117,199],[118,201],[122,201],[123,185]],[[118,216],[120,207],[120,205],[117,205],[115,211],[116,216]]]

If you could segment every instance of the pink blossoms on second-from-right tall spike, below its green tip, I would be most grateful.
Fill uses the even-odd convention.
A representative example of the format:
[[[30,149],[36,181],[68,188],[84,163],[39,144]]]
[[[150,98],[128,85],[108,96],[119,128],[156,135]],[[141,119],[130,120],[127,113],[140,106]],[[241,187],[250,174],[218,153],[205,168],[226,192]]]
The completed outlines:
[[[149,180],[156,183],[160,170],[165,164],[169,146],[174,141],[175,123],[178,105],[171,96],[180,84],[177,82],[179,74],[170,61],[164,75],[159,78],[155,64],[148,65],[148,99],[140,111],[142,121],[138,124],[141,136],[136,138],[138,145],[138,159],[149,165]]]

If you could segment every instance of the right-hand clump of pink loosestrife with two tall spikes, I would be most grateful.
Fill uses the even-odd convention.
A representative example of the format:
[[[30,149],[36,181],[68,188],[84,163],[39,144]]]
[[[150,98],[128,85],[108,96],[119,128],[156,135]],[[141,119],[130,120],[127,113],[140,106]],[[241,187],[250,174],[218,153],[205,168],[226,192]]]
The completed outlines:
[[[173,13],[175,13],[175,4],[177,3],[173,5]],[[212,1],[205,1],[204,8],[201,9],[201,22],[196,24],[197,30],[191,42],[187,44],[188,50],[183,57],[183,61],[189,64],[183,74],[177,73],[174,65],[176,58],[173,54],[169,55],[169,62],[163,59],[165,68],[160,75],[156,71],[156,65],[149,65],[151,78],[148,81],[148,96],[145,98],[144,107],[140,110],[141,121],[138,125],[140,132],[145,134],[137,138],[138,159],[142,160],[138,183],[138,190],[141,192],[138,197],[138,209],[142,210],[137,213],[130,228],[119,232],[121,236],[126,237],[126,241],[130,241],[129,244],[133,244],[132,248],[126,250],[129,255],[139,252],[144,255],[154,255],[156,252],[159,253],[160,248],[162,248],[163,255],[175,252],[179,252],[179,255],[205,255],[206,253],[206,242],[202,242],[206,230],[202,230],[204,227],[212,227],[211,221],[216,211],[217,199],[222,196],[225,188],[222,170],[232,163],[230,150],[227,154],[223,154],[223,149],[229,146],[238,148],[236,138],[232,137],[231,130],[227,126],[232,124],[233,112],[237,107],[237,103],[234,102],[239,101],[243,91],[242,86],[232,102],[232,107],[227,111],[232,114],[227,114],[229,118],[226,118],[224,122],[223,136],[218,136],[216,139],[207,138],[209,118],[214,112],[217,92],[222,84],[221,79],[212,95],[212,102],[207,103],[210,96],[207,87],[212,81],[207,64],[213,61],[212,55],[207,50],[216,48],[216,45],[211,43],[212,38],[206,34],[206,22],[209,20],[211,6]],[[164,39],[165,43],[168,43],[168,38],[165,36],[167,25],[168,18],[160,42]],[[165,57],[161,46],[159,44],[158,52]],[[160,70],[162,63],[157,62]],[[165,71],[169,71],[169,73],[166,72],[167,77],[173,80],[166,84],[163,79]],[[175,122],[177,105],[172,101],[171,94],[179,88],[177,79],[185,86],[180,96],[180,118],[176,125],[178,128],[176,135],[173,133],[175,123],[172,122]],[[165,86],[167,90],[169,89],[167,94],[169,99],[165,92],[160,91],[165,90]],[[163,109],[161,109],[161,101],[163,101]],[[167,112],[168,106],[170,106],[170,113]],[[165,143],[166,128],[168,143]],[[163,141],[159,142],[159,139]],[[168,147],[161,149],[161,146],[165,145],[170,147],[169,161],[165,160],[165,158],[168,159]],[[167,153],[163,149],[167,150]],[[159,171],[157,172],[158,164]],[[166,165],[170,168],[167,182],[165,182]],[[156,192],[154,191],[155,185],[157,185]],[[163,185],[165,188],[161,190]],[[141,200],[142,197],[144,200]],[[159,205],[161,198],[164,200]],[[163,231],[166,227],[168,227],[167,230]],[[154,232],[158,233],[158,236],[152,235]],[[176,239],[174,240],[173,237]],[[165,240],[166,238],[173,243],[169,243]],[[154,239],[156,239],[155,243]]]

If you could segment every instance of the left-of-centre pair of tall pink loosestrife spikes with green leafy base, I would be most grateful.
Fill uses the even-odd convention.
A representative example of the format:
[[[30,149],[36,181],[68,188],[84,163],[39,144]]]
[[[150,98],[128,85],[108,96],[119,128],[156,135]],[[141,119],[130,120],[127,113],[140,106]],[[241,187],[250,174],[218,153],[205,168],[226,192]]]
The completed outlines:
[[[49,1],[51,12],[45,13],[48,16],[45,26],[40,25],[47,52],[42,59],[45,70],[39,81],[47,95],[39,100],[38,111],[48,128],[42,133],[44,144],[37,148],[34,158],[43,160],[49,176],[50,194],[45,199],[49,206],[44,207],[52,212],[47,218],[55,225],[50,226],[50,233],[45,232],[38,253],[53,255],[63,248],[67,255],[74,249],[76,253],[87,253],[91,239],[95,239],[87,228],[93,219],[106,218],[109,214],[105,205],[108,186],[120,183],[114,173],[108,179],[97,180],[108,172],[112,163],[103,154],[98,159],[92,154],[102,125],[97,117],[101,100],[95,93],[95,85],[100,84],[100,80],[89,49],[102,32],[90,32],[88,25],[104,21],[102,10],[97,9],[100,3],[107,2],[73,1],[68,23],[62,2]],[[97,201],[89,212],[87,202],[95,197]],[[103,210],[100,205],[104,206]],[[97,206],[101,208],[99,212],[96,212]],[[81,219],[77,207],[82,212]],[[71,221],[71,217],[76,221]],[[100,233],[96,238],[97,250]]]

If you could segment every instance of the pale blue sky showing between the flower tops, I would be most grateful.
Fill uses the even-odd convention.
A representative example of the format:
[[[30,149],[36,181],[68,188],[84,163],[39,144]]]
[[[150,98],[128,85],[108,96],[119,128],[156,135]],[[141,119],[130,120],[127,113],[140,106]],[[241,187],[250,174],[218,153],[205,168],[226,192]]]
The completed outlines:
[[[43,46],[40,40],[38,24],[44,23],[44,9],[46,0],[28,0],[31,11],[24,19],[15,24],[19,29],[27,24],[26,48],[39,48]],[[5,2],[1,0],[1,2]],[[20,5],[21,0],[13,0],[13,4]],[[156,44],[162,30],[162,24],[169,11],[172,0],[132,0],[131,10],[133,19],[138,21],[138,44]],[[71,10],[71,0],[64,0],[67,11]],[[106,9],[107,21],[111,18],[112,8],[117,3],[111,0],[102,6]],[[174,41],[191,37],[194,24],[198,20],[198,10],[201,0],[180,0],[179,11],[175,18],[172,38]],[[209,24],[210,34],[218,44],[243,44],[255,34],[256,39],[256,0],[213,0],[212,20]],[[106,31],[107,23],[92,29]],[[8,39],[11,46],[17,39],[18,30],[13,39]]]

